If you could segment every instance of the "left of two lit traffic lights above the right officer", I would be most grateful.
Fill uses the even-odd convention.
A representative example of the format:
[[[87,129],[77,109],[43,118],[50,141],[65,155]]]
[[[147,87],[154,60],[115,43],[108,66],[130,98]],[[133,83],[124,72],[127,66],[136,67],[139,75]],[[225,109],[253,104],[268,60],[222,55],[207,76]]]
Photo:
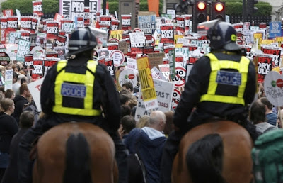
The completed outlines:
[[[197,30],[197,24],[207,21],[207,1],[195,1],[193,15],[193,31]]]

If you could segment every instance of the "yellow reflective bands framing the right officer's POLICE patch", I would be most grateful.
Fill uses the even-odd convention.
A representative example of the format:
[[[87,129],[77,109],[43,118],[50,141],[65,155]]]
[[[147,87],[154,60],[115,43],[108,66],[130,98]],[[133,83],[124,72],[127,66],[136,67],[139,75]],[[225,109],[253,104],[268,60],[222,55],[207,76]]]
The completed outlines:
[[[206,56],[210,59],[210,66],[212,67],[212,72],[210,73],[207,94],[202,95],[200,97],[200,101],[214,101],[228,104],[245,105],[243,94],[246,89],[246,82],[248,79],[248,65],[250,64],[250,60],[248,60],[248,58],[246,57],[241,57],[240,62],[229,60],[219,61],[212,53],[209,53]],[[217,72],[220,69],[234,69],[238,70],[238,72],[241,74],[241,85],[238,86],[237,96],[223,96],[215,94],[218,85],[216,82],[216,77]]]

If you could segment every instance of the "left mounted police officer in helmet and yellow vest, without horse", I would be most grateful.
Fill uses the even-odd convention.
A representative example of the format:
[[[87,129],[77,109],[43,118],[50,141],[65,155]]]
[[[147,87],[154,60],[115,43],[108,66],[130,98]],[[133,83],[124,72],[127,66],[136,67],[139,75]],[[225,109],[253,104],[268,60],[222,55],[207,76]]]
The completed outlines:
[[[32,162],[28,157],[33,141],[53,126],[69,121],[93,123],[110,134],[116,148],[119,182],[127,182],[127,151],[117,135],[120,126],[118,93],[108,69],[93,60],[93,48],[103,42],[103,38],[107,40],[107,33],[96,28],[74,30],[69,38],[69,52],[65,55],[72,59],[61,60],[48,70],[40,89],[40,102],[46,117],[30,128],[21,140],[19,182],[32,182]]]

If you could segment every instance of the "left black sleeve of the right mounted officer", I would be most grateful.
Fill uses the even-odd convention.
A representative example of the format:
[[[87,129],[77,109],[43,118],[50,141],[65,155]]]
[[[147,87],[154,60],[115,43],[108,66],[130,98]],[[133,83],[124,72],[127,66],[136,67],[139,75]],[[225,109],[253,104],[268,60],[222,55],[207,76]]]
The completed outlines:
[[[178,128],[184,128],[187,118],[194,106],[200,101],[202,91],[204,91],[205,78],[209,78],[210,62],[208,57],[201,57],[190,71],[189,78],[185,84],[185,89],[181,95],[180,102],[175,109],[173,122]]]

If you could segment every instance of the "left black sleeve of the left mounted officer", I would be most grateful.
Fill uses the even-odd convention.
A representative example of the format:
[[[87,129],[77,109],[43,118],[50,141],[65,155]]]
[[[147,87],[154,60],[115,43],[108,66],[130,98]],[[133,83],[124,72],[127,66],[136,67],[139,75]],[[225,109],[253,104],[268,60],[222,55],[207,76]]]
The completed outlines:
[[[57,76],[57,64],[47,72],[40,89],[40,104],[42,112],[50,115],[54,106],[54,83]]]

